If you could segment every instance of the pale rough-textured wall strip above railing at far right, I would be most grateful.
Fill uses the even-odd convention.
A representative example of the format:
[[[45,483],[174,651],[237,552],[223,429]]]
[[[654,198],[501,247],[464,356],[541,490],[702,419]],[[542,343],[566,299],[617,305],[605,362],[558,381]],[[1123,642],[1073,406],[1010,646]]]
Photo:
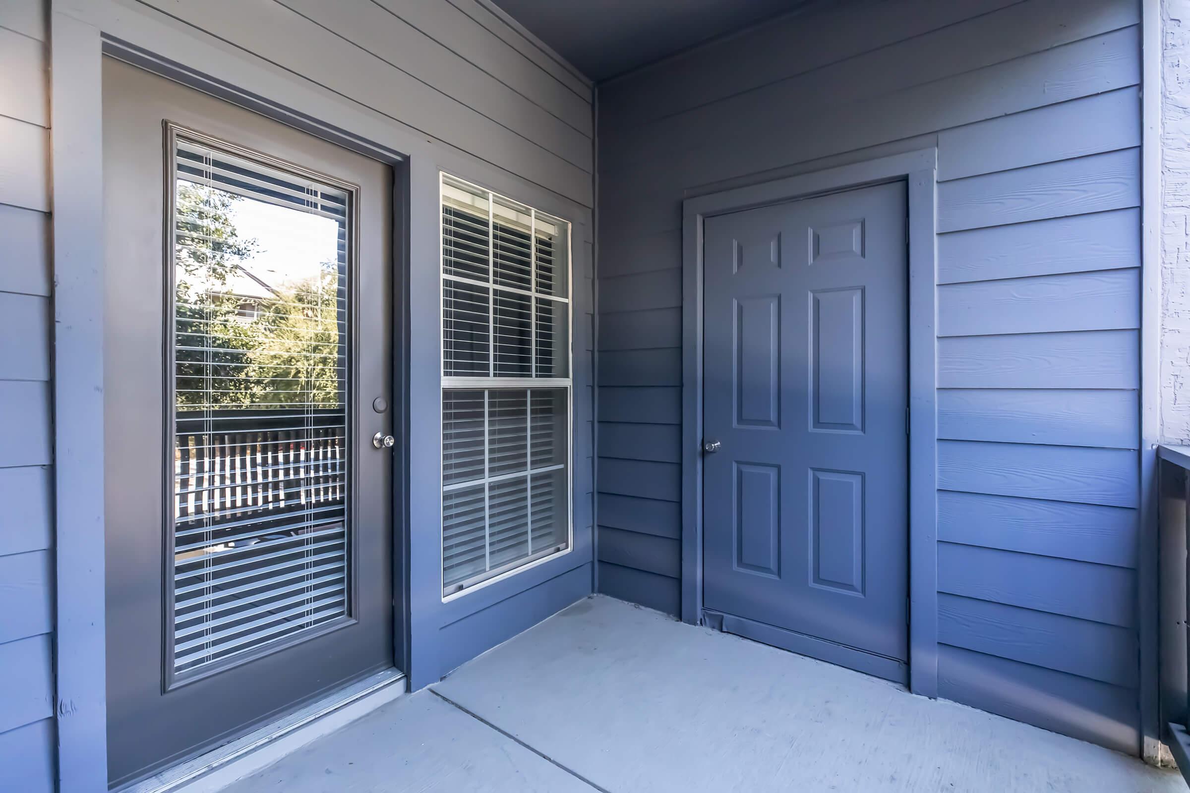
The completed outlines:
[[[1190,445],[1190,0],[1161,2],[1161,442]]]

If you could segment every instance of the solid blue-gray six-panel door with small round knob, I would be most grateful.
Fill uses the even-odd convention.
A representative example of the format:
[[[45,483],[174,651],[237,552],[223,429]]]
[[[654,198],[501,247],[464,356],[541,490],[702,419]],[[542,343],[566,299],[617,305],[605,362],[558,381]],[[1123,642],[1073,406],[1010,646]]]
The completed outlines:
[[[704,246],[704,605],[906,661],[904,184],[709,218]]]

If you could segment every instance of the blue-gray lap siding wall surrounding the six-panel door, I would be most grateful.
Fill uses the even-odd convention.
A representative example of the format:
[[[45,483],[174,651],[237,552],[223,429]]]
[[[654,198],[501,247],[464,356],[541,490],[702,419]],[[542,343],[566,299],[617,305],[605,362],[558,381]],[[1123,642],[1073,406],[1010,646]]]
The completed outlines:
[[[1139,751],[1139,21],[840,2],[601,87],[601,591],[679,610],[682,200],[937,145],[939,694]]]

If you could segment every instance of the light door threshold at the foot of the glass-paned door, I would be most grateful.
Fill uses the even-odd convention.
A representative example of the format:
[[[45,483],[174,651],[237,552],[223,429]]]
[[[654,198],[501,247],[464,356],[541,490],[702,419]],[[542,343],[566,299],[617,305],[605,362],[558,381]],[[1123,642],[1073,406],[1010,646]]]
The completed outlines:
[[[403,673],[395,668],[377,672],[205,755],[117,791],[118,793],[220,791],[236,780],[255,774],[324,735],[397,699],[405,692]]]

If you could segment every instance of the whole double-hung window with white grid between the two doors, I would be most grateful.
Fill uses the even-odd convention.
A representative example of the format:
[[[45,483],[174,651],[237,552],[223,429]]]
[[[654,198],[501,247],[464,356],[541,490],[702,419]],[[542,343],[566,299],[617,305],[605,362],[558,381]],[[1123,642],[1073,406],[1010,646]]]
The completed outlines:
[[[443,597],[570,548],[570,226],[451,176]]]

